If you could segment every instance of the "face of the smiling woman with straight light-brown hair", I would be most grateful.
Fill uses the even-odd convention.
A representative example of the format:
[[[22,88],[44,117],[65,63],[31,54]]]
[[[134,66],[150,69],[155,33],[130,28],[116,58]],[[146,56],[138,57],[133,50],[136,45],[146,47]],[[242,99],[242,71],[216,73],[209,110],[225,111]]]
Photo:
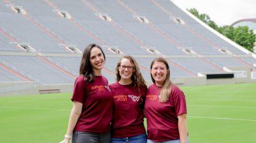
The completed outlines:
[[[153,79],[156,81],[157,86],[163,86],[164,80],[166,79],[167,75],[167,68],[163,62],[155,61],[152,65],[152,69],[150,71]]]

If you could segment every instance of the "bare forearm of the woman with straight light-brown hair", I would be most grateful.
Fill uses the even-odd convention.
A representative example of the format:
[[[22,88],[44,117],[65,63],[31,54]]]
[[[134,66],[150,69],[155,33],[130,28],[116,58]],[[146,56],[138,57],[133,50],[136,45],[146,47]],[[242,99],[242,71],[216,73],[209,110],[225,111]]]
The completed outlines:
[[[187,132],[187,114],[180,114],[178,116],[178,128],[180,133],[180,143],[186,143],[188,132]]]

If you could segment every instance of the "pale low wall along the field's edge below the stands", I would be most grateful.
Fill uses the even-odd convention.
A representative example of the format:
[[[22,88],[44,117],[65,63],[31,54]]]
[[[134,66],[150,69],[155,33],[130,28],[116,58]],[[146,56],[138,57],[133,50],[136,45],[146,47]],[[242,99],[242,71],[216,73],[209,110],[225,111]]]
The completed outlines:
[[[252,72],[255,74],[255,70],[248,67],[228,67],[230,70],[240,71],[239,75],[243,75],[246,71],[246,77],[234,77],[227,79],[207,79],[204,73],[200,73],[199,77],[179,77],[173,78],[172,81],[177,86],[203,86],[214,84],[236,84],[256,82],[256,79],[252,79]],[[234,73],[234,72],[230,72]],[[256,77],[256,76],[255,76]],[[253,78],[255,78],[253,77]],[[149,86],[152,82],[147,82]],[[59,85],[43,85],[36,86],[34,82],[0,82],[0,96],[19,96],[29,94],[50,94],[50,93],[72,93],[73,84],[59,84]],[[5,91],[3,91],[4,89]]]

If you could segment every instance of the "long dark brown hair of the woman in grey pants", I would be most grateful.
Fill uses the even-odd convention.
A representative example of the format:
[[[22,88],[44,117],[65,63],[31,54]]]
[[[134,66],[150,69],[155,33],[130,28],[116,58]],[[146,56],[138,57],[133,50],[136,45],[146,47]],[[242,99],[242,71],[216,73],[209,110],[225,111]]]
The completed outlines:
[[[102,52],[102,54],[104,56],[104,60],[106,61],[105,54],[99,45],[97,45],[95,43],[91,43],[84,49],[83,57],[81,59],[79,73],[80,73],[80,75],[84,76],[84,81],[87,83],[93,82],[94,78],[95,78],[95,75],[94,75],[93,69],[92,69],[92,64],[90,62],[91,50],[93,49],[93,47],[97,47],[100,49],[100,51]]]

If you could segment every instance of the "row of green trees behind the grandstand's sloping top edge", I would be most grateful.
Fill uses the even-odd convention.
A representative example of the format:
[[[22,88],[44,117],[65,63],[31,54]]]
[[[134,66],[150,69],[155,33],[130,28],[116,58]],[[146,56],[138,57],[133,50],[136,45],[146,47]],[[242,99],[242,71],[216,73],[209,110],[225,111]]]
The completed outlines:
[[[230,40],[235,41],[237,44],[241,45],[247,50],[253,51],[253,43],[256,41],[256,36],[252,30],[249,30],[247,26],[239,26],[237,28],[232,26],[219,27],[214,21],[211,20],[209,15],[205,13],[200,14],[196,8],[190,8],[188,11]]]

